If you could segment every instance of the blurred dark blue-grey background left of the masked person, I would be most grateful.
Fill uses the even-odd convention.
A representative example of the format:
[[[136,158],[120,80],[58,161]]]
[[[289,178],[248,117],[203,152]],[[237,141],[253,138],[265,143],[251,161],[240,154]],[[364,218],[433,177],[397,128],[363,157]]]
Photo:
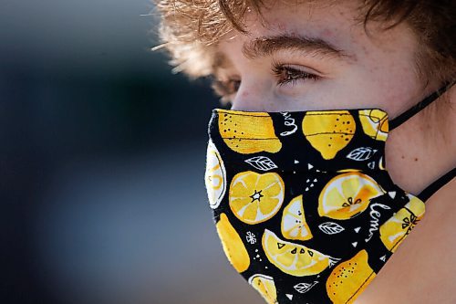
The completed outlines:
[[[146,0],[0,4],[1,303],[264,303],[203,184],[216,98]]]

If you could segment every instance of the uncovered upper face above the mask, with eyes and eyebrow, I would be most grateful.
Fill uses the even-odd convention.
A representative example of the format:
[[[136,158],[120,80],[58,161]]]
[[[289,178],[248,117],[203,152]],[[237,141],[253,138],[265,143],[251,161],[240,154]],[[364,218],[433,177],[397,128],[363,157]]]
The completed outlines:
[[[247,14],[249,34],[223,37],[214,70],[232,109],[380,108],[394,117],[420,101],[415,37],[403,24],[370,24],[367,34],[357,5],[277,2],[264,9],[265,23]]]

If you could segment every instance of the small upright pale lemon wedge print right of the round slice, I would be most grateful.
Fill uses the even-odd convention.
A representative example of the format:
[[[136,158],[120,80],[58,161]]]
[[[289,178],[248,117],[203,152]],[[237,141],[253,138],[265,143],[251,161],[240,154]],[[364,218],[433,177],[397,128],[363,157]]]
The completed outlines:
[[[296,196],[285,206],[281,229],[287,239],[305,241],[313,237],[304,214],[303,195]]]

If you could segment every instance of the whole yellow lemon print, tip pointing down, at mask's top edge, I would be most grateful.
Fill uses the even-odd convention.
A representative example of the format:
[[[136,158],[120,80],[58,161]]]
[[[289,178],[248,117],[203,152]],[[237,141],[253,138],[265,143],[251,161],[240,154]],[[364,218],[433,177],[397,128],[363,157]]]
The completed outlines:
[[[332,160],[353,138],[356,124],[347,110],[310,111],[302,123],[306,139],[325,160]]]

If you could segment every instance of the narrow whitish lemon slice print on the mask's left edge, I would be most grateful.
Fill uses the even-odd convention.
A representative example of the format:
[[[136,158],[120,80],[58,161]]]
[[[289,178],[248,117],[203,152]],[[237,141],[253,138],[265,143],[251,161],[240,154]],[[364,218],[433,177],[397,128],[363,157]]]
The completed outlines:
[[[214,144],[209,141],[206,154],[206,173],[204,174],[207,196],[212,209],[222,202],[226,192],[226,172],[223,160]]]

